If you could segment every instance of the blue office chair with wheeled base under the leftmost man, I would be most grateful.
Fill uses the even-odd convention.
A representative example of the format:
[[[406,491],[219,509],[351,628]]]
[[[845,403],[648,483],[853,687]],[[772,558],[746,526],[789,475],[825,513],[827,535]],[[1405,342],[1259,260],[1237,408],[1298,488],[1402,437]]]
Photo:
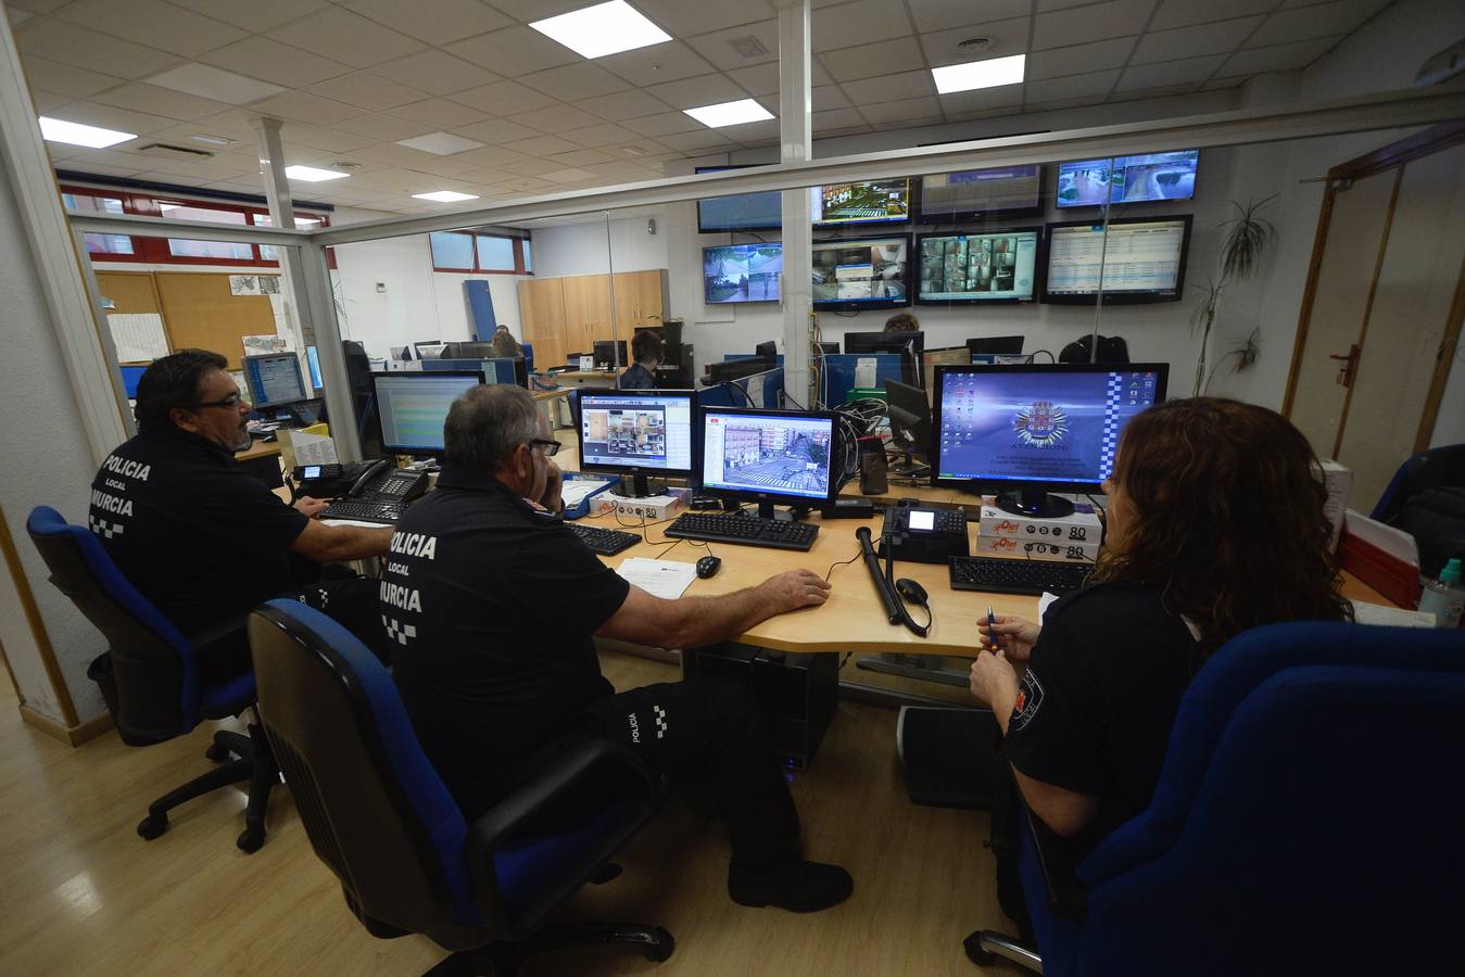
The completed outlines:
[[[123,743],[163,743],[192,732],[204,719],[237,716],[253,706],[253,675],[202,681],[198,668],[198,656],[207,653],[209,644],[242,640],[243,620],[185,637],[127,583],[86,527],[70,526],[54,508],[38,505],[25,529],[51,571],[51,583],[107,639],[108,681],[114,684],[114,694],[105,686],[104,691]],[[245,832],[237,845],[246,852],[258,851],[265,844],[270,790],[280,782],[280,769],[258,719],[249,724],[249,735],[215,731],[205,756],[214,762],[237,759],[152,801],[138,833],[152,841],[168,829],[168,811],[179,804],[249,781]]]

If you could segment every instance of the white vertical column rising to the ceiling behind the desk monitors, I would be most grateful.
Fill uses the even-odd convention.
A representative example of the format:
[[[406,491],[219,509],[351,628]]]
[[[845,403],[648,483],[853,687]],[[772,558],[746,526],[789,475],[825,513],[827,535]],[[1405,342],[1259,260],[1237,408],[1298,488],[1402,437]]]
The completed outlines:
[[[809,0],[778,3],[779,163],[804,163],[810,152]],[[813,406],[809,343],[813,312],[813,224],[809,190],[784,190],[784,393]]]

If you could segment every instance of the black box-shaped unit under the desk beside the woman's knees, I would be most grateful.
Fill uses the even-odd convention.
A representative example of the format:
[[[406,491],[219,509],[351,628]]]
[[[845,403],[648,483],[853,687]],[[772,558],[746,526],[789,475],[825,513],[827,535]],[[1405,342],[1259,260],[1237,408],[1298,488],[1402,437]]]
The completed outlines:
[[[990,709],[901,706],[895,750],[914,803],[992,807],[998,722]]]

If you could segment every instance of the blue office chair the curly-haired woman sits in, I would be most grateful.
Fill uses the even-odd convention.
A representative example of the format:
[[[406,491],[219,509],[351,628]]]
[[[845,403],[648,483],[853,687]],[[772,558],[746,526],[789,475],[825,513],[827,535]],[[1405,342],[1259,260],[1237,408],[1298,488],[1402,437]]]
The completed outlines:
[[[1238,636],[1187,690],[1144,813],[1077,873],[1024,831],[1040,973],[1465,974],[1462,744],[1465,631]],[[979,964],[1030,952],[967,939]]]

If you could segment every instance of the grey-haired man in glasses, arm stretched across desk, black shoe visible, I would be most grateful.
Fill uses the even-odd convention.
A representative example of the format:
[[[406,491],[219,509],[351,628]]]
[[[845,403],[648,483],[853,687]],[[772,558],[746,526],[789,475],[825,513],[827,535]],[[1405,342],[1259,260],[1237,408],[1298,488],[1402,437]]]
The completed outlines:
[[[529,391],[475,387],[444,425],[435,492],[397,526],[381,618],[394,680],[428,759],[472,820],[576,740],[620,743],[713,797],[732,842],[728,894],[815,911],[844,869],[804,861],[798,814],[743,683],[694,678],[615,694],[593,636],[697,647],[825,602],[809,570],[715,598],[633,587],[570,532],[558,444]]]

